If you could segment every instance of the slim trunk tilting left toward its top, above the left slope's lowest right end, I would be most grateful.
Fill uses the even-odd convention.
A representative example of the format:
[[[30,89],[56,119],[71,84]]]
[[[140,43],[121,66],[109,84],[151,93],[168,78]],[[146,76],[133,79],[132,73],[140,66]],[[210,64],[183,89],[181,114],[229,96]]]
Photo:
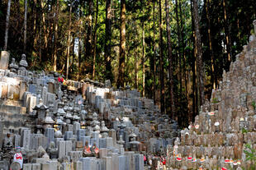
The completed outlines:
[[[165,0],[165,10],[166,10],[166,32],[167,32],[167,42],[168,42],[168,72],[169,72],[169,88],[170,88],[170,108],[171,117],[174,117],[175,105],[173,97],[173,55],[172,55],[172,42],[171,42],[171,28],[170,28],[170,18],[169,18],[169,5],[168,0]]]

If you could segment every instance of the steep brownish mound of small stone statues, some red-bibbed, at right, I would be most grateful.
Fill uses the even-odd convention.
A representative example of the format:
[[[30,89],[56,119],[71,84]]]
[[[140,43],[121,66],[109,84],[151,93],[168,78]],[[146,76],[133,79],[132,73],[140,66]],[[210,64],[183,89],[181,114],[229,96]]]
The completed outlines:
[[[230,71],[224,71],[220,88],[212,90],[211,101],[201,106],[195,122],[168,148],[168,167],[252,168],[255,162],[246,161],[244,149],[246,144],[256,149],[255,102],[256,37],[251,35]]]

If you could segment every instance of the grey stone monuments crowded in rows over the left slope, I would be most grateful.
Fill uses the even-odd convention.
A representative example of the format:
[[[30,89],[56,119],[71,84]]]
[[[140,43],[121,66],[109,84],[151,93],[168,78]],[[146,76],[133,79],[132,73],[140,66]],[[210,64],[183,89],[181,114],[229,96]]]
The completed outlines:
[[[9,57],[2,51],[0,169],[140,170],[144,155],[164,153],[178,136],[177,122],[129,86],[62,82],[57,72],[26,70],[25,54],[18,64]],[[13,161],[20,152],[22,163]]]

